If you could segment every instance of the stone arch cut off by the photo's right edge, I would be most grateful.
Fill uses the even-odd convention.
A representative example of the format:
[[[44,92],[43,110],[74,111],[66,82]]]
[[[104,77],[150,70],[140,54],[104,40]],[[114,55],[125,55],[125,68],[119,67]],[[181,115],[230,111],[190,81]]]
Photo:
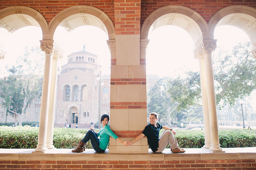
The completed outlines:
[[[256,9],[244,5],[232,5],[216,12],[209,21],[209,34],[206,38],[213,39],[214,29],[220,25],[231,25],[242,29],[256,42]],[[241,22],[243,21],[243,22]]]

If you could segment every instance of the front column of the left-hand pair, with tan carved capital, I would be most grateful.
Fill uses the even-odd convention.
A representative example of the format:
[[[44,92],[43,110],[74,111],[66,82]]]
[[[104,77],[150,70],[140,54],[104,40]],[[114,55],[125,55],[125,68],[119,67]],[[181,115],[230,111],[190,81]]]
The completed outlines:
[[[52,72],[52,48],[53,40],[41,40],[40,48],[45,52],[44,62],[44,77],[43,77],[43,89],[42,89],[42,100],[40,109],[39,119],[39,132],[38,142],[35,149],[36,152],[32,153],[44,153],[46,148],[46,132],[47,132],[47,120],[49,110],[49,98],[50,98],[50,80]]]

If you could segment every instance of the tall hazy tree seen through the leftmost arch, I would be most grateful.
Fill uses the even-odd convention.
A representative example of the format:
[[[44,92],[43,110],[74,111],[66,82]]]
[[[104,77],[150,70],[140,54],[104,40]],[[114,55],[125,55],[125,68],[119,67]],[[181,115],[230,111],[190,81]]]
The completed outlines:
[[[31,60],[33,58],[33,60]],[[16,66],[7,70],[10,75],[1,80],[0,97],[6,111],[15,118],[20,117],[19,126],[28,104],[37,96],[41,95],[44,54],[39,47],[25,47],[25,53],[17,61]]]

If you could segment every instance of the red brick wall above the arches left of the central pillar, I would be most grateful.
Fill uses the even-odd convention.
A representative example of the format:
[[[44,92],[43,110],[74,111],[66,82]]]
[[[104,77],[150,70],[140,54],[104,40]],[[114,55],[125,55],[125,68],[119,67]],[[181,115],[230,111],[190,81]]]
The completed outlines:
[[[115,23],[114,0],[1,0],[0,10],[10,6],[28,6],[36,9],[48,23],[60,11],[76,5],[89,5],[104,11]]]

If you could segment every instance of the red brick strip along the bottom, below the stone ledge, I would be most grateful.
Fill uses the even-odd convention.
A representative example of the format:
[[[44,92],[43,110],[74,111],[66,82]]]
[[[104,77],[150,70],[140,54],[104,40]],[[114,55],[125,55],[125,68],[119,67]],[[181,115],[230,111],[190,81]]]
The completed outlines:
[[[121,131],[120,131],[121,132]],[[238,160],[161,160],[161,161],[121,161],[121,160],[0,160],[1,170],[75,170],[75,169],[152,169],[154,170],[255,170],[255,159]]]

